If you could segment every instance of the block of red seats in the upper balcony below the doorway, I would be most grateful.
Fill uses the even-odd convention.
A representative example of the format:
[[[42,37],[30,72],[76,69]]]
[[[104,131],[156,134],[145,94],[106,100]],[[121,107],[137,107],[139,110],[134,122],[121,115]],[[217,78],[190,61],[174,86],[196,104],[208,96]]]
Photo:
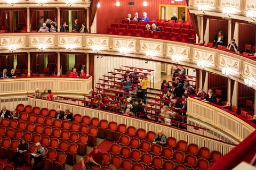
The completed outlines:
[[[153,23],[161,31],[145,30],[146,24],[151,26]],[[108,33],[110,35],[157,38],[183,43],[195,43],[196,39],[196,32],[190,21],[185,21],[185,23],[177,21],[175,23],[175,20],[154,20],[149,22],[123,20],[122,23],[111,23]]]

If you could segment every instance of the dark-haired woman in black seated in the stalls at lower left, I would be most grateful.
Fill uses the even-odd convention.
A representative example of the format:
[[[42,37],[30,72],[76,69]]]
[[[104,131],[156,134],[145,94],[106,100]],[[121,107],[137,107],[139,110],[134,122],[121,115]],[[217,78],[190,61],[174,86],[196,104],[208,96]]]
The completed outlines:
[[[18,160],[21,157],[24,157],[25,153],[28,150],[28,143],[24,138],[20,140],[20,145],[17,147],[14,156],[11,158],[11,160],[8,160],[7,163],[14,162],[14,168],[19,163]]]

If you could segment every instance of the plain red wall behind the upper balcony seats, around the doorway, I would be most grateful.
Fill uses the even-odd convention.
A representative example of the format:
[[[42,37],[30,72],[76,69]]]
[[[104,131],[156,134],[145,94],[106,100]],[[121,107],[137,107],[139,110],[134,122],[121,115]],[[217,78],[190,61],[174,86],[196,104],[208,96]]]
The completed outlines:
[[[116,1],[113,0],[99,0],[100,8],[97,10],[97,33],[107,33],[108,27],[111,23],[121,23],[128,13],[132,16],[135,12],[139,13],[141,18],[143,12],[148,13],[150,19],[159,18],[159,5],[187,5],[186,1],[175,2],[171,4],[170,0],[152,1],[148,0],[148,6],[143,6],[142,3],[145,0],[122,0],[120,6],[116,6]],[[129,6],[128,2],[134,2],[134,5]],[[187,16],[188,21],[190,17]]]

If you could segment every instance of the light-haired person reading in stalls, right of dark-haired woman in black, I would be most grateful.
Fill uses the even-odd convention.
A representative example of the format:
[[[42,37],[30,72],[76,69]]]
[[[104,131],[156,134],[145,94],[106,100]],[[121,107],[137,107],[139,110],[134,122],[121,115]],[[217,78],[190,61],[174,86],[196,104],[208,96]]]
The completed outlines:
[[[40,162],[43,162],[43,157],[45,156],[45,150],[41,146],[41,143],[36,143],[36,149],[33,154],[31,154],[31,169],[34,169],[34,166]]]

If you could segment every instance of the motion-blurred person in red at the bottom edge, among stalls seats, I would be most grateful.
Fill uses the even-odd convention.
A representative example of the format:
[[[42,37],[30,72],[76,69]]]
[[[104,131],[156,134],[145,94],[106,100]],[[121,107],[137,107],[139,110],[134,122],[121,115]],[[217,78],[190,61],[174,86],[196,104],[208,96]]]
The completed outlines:
[[[96,145],[93,147],[93,150],[87,156],[86,162],[84,162],[84,158],[81,158],[82,169],[91,169],[92,166],[101,165],[102,161],[102,151]]]

